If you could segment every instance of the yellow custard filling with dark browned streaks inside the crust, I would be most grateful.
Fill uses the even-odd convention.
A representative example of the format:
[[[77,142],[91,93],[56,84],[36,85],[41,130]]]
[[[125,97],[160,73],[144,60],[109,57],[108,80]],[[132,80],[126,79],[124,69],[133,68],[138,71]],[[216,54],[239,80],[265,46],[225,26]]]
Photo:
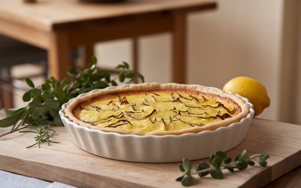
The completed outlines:
[[[176,131],[237,115],[229,99],[199,91],[158,90],[108,94],[79,103],[73,115],[93,126],[132,131]]]

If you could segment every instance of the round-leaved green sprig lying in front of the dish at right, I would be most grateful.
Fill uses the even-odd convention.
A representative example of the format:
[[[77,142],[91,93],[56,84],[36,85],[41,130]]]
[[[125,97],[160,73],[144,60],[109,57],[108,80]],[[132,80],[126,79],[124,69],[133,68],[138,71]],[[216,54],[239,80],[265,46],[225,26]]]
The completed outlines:
[[[198,174],[200,177],[204,177],[210,174],[214,179],[223,179],[223,172],[221,169],[228,169],[230,172],[234,172],[234,169],[244,170],[248,165],[255,165],[255,162],[251,159],[256,158],[258,164],[262,167],[267,165],[266,159],[269,157],[268,154],[256,154],[248,156],[247,150],[244,150],[241,155],[234,157],[233,162],[231,157],[227,153],[222,151],[217,151],[214,154],[211,154],[208,163],[201,162],[194,165],[195,171],[191,172],[191,162],[184,158],[183,164],[179,164],[178,167],[180,171],[184,172],[182,175],[178,176],[175,180],[181,181],[182,185],[190,186],[193,183],[193,174]]]

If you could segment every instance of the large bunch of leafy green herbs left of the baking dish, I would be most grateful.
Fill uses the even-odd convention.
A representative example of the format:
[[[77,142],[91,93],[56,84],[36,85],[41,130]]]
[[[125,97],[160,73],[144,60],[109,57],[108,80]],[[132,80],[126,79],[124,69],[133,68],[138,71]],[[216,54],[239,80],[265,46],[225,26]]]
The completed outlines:
[[[135,78],[139,78],[144,82],[144,77],[139,72],[129,70],[129,64],[126,62],[116,66],[118,76],[114,79],[111,79],[111,74],[108,71],[100,70],[96,63],[96,57],[92,56],[92,63],[88,63],[86,69],[72,66],[67,68],[71,78],[65,78],[60,82],[51,77],[46,79],[45,83],[39,87],[35,87],[32,80],[26,78],[27,85],[32,89],[23,95],[23,101],[31,102],[28,106],[14,111],[3,109],[6,118],[0,120],[0,128],[12,128],[10,132],[2,134],[0,137],[29,126],[64,126],[58,112],[64,103],[79,94],[93,89],[103,89],[110,85],[116,86],[117,79],[120,82],[130,83]]]

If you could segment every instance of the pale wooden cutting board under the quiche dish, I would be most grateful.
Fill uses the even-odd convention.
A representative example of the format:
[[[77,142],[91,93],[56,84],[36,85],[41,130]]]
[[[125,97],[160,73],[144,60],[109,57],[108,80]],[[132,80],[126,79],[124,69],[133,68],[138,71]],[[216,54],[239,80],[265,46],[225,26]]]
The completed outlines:
[[[2,117],[0,117],[2,118]],[[18,133],[0,138],[0,169],[78,187],[182,187],[175,177],[181,174],[178,163],[134,163],[106,159],[79,149],[64,127],[52,143],[41,148],[35,134]],[[301,165],[301,126],[253,119],[245,139],[228,155],[234,157],[247,149],[249,155],[268,153],[266,168],[259,165],[234,173],[223,170],[224,179],[194,178],[191,187],[261,187]],[[235,135],[229,135],[235,136]],[[200,149],[200,148],[196,148]],[[208,159],[193,161],[207,162]]]

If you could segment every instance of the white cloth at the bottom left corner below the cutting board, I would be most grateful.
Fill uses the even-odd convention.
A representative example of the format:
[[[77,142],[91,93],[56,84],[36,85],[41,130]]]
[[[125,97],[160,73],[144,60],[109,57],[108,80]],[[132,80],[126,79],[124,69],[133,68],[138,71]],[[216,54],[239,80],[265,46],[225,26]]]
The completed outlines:
[[[0,170],[0,188],[76,188],[59,182],[48,182]]]

